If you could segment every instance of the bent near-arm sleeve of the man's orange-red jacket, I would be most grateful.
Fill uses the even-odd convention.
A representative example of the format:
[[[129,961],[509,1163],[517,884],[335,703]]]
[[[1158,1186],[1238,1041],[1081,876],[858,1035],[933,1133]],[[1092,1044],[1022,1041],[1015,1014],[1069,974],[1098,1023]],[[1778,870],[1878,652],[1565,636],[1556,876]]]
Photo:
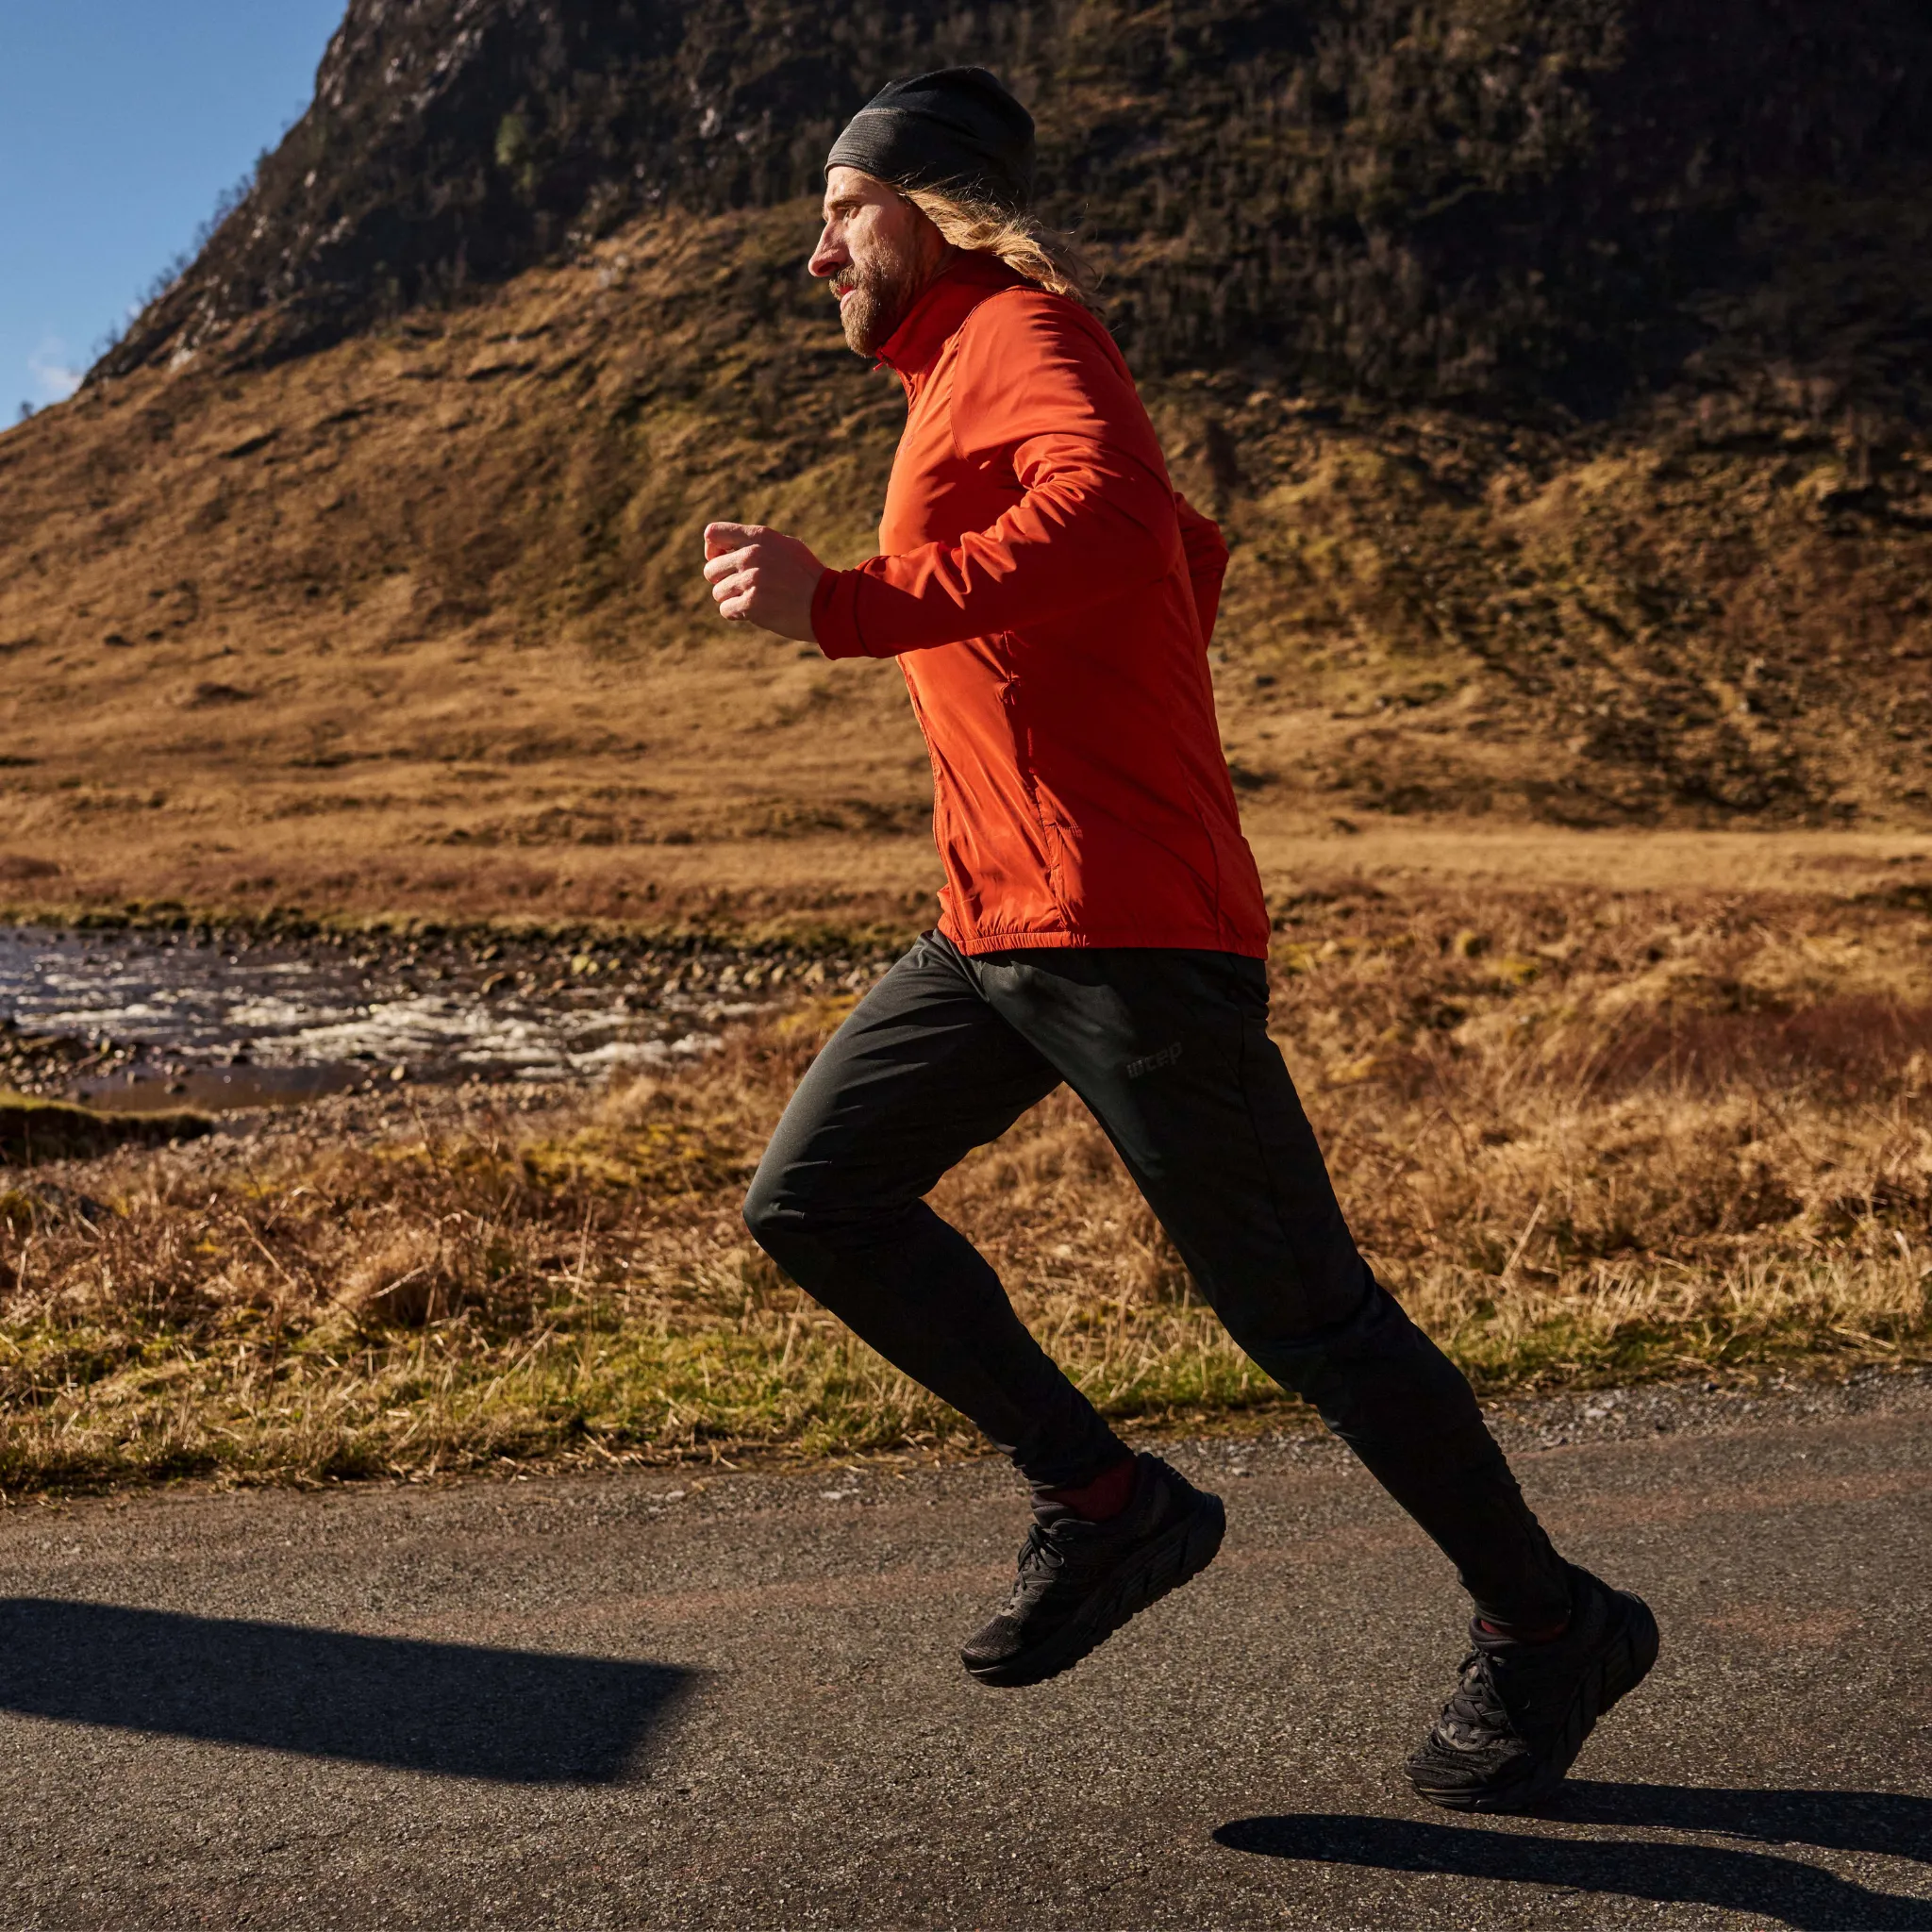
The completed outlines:
[[[1041,290],[989,298],[966,323],[952,394],[958,458],[1010,471],[1016,500],[991,529],[829,570],[811,601],[827,657],[1024,630],[1175,566],[1179,512],[1159,442],[1084,309]]]

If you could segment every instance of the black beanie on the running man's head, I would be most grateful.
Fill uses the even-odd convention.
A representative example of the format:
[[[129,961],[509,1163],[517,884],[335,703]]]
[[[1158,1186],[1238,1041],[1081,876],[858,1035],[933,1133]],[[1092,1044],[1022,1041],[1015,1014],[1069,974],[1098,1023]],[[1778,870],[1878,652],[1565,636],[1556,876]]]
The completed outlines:
[[[881,87],[825,156],[893,187],[945,187],[1018,211],[1034,199],[1034,116],[985,68]]]

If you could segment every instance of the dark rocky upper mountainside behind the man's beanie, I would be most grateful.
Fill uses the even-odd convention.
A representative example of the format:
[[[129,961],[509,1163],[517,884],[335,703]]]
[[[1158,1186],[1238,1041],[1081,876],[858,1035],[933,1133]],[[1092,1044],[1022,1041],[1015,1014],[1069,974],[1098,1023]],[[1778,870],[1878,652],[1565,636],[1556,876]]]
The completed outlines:
[[[309,112],[97,377],[315,348],[639,209],[811,193],[881,79],[951,60],[1032,102],[1144,369],[1596,413],[1737,338],[1915,406],[1924,0],[352,0]]]

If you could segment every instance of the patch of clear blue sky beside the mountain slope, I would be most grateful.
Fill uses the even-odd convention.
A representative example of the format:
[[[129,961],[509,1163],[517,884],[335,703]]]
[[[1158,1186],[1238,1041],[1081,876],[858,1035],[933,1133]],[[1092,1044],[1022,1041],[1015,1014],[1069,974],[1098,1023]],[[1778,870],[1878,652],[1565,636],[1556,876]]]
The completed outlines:
[[[0,429],[309,104],[346,0],[0,0]]]

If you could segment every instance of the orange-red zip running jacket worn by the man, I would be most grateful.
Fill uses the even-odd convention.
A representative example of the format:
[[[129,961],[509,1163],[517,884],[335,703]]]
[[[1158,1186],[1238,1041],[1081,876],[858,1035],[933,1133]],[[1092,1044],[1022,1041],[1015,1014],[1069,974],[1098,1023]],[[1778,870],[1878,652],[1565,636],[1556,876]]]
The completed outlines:
[[[896,657],[933,759],[939,929],[1267,952],[1208,638],[1221,531],[1167,479],[1113,338],[960,255],[879,359],[906,384],[881,556],[829,570],[827,657]]]

